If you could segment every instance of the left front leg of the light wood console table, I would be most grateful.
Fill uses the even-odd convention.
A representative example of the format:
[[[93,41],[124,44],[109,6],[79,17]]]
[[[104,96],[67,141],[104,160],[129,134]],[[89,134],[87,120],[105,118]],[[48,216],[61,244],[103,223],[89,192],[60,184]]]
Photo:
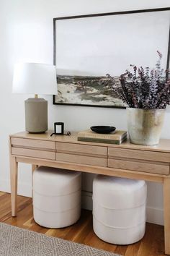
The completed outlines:
[[[12,200],[12,216],[17,216],[17,179],[18,179],[18,163],[16,158],[10,156],[10,179],[11,179],[11,200]]]

